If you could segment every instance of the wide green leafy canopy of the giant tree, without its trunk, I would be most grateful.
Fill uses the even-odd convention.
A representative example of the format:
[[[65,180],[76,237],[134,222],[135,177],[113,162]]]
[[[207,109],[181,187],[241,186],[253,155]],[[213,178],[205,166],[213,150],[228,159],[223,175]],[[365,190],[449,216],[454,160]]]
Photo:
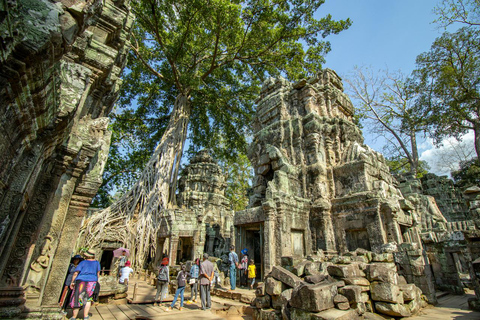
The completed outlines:
[[[207,148],[228,161],[244,155],[262,81],[315,74],[330,51],[323,38],[350,26],[330,15],[315,19],[323,2],[133,1],[136,22],[100,195],[135,180],[179,94],[191,106],[191,153]]]

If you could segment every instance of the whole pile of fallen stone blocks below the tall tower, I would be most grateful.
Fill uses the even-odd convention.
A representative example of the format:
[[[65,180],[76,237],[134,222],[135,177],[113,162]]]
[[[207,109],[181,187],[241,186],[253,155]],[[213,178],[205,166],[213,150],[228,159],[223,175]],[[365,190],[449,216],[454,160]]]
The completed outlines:
[[[363,249],[330,259],[282,258],[255,293],[255,318],[268,320],[408,317],[427,305],[398,275],[392,253]]]

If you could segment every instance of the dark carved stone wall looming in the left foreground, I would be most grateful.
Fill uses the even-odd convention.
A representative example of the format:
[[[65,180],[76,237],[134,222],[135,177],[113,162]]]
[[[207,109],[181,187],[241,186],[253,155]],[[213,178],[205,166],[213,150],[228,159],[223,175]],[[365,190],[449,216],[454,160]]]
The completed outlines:
[[[133,17],[128,1],[0,8],[0,317],[53,319],[102,181]]]

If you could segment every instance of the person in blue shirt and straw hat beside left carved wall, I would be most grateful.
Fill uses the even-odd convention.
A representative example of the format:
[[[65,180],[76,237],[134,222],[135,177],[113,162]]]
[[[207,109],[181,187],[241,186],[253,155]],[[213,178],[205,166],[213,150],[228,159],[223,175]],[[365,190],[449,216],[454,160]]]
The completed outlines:
[[[100,263],[95,260],[95,250],[88,249],[83,253],[85,260],[80,262],[73,273],[70,289],[74,290],[70,307],[73,309],[73,317],[77,318],[78,311],[83,307],[83,319],[90,319],[88,312],[93,301],[93,293],[98,285],[100,276]]]

